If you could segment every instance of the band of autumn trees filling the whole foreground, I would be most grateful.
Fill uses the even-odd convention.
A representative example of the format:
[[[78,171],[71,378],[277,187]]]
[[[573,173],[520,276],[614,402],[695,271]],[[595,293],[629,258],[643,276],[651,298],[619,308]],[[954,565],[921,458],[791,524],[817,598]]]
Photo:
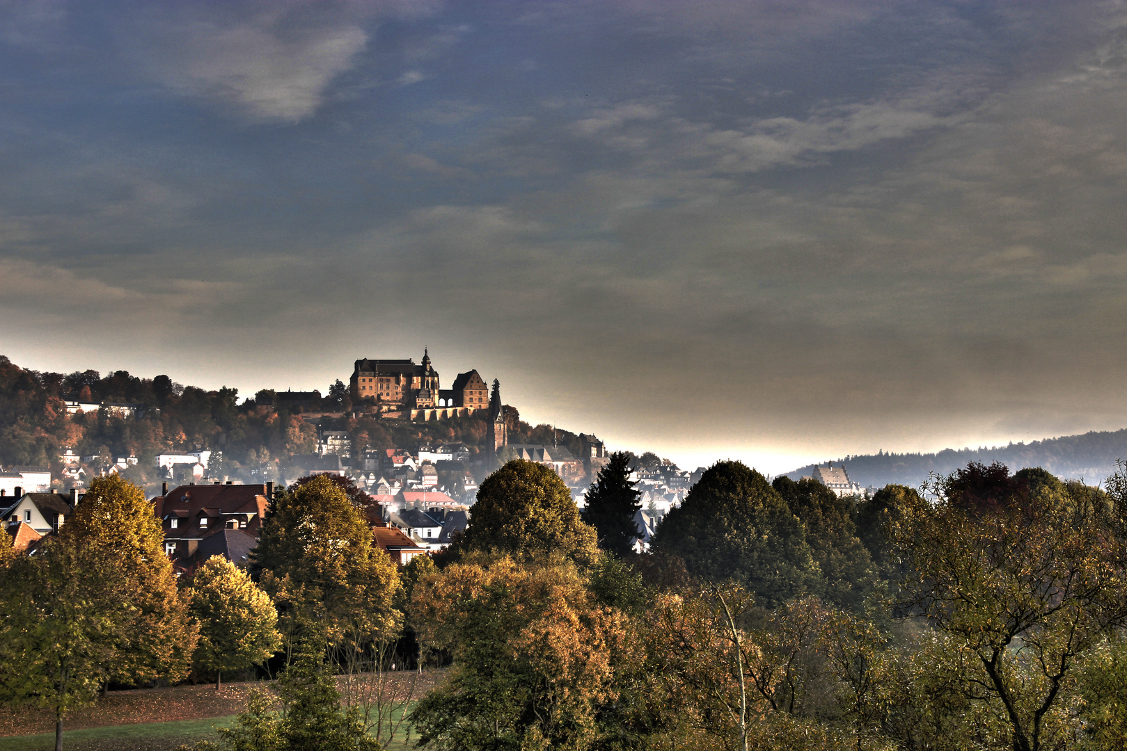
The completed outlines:
[[[36,555],[0,548],[0,698],[52,709],[61,740],[107,686],[268,667],[199,751],[379,749],[388,701],[329,677],[398,663],[441,672],[399,705],[441,751],[1127,744],[1127,476],[969,464],[858,499],[719,462],[639,554],[629,467],[613,455],[580,515],[509,462],[402,570],[347,480],[305,479],[247,570],[185,581],[140,490],[97,479]]]

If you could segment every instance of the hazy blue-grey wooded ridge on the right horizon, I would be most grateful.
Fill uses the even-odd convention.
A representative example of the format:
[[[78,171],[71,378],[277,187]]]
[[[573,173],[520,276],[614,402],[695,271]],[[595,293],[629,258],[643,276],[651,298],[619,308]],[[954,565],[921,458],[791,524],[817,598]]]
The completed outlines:
[[[1127,459],[1127,428],[1091,431],[1077,436],[1046,438],[1030,444],[1010,444],[991,448],[944,448],[937,454],[869,454],[834,459],[844,466],[850,480],[862,486],[881,488],[895,483],[917,488],[935,472],[948,474],[970,462],[1001,462],[1017,472],[1023,467],[1044,467],[1065,480],[1081,480],[1094,485],[1116,471],[1116,459]],[[823,463],[824,464],[824,463]],[[810,464],[786,473],[798,480],[814,472]]]

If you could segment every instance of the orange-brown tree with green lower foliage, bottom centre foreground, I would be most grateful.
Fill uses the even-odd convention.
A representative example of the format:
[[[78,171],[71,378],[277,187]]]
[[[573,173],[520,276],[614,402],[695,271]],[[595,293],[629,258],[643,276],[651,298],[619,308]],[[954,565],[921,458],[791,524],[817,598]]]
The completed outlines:
[[[411,713],[419,744],[455,749],[593,748],[629,660],[625,618],[598,606],[576,565],[481,554],[424,574],[412,620],[450,650],[450,678]]]

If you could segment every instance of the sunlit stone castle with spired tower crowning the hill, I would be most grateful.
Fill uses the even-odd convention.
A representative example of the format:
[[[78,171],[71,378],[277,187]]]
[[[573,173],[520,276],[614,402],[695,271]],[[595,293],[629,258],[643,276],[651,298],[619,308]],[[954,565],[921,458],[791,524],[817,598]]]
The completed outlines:
[[[356,360],[348,381],[354,402],[374,403],[388,417],[442,420],[465,417],[489,406],[488,388],[477,370],[460,373],[453,386],[443,390],[431,356],[415,360]]]

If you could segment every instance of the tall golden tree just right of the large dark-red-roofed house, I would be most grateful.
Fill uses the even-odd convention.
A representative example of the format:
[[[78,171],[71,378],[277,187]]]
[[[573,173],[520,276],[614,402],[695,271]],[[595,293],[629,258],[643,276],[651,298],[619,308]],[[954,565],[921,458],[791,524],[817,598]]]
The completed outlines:
[[[398,633],[396,564],[373,547],[367,522],[329,476],[275,498],[252,565],[291,646],[318,634],[357,651]]]

